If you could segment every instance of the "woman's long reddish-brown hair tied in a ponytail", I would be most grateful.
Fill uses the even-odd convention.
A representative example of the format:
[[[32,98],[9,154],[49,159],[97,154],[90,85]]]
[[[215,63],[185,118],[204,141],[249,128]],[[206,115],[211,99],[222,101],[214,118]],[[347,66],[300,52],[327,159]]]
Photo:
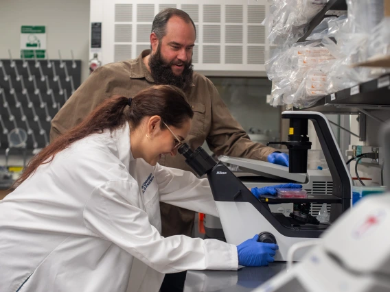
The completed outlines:
[[[131,130],[135,130],[144,117],[160,116],[164,123],[173,127],[181,127],[187,119],[194,117],[183,91],[170,85],[152,86],[141,90],[133,97],[130,107],[128,104],[128,97],[117,95],[106,99],[79,125],[58,136],[36,154],[13,186],[19,186],[33,175],[40,165],[51,162],[58,152],[91,134],[115,130],[124,126],[126,122],[130,122]],[[165,125],[161,123],[160,127],[163,129]]]

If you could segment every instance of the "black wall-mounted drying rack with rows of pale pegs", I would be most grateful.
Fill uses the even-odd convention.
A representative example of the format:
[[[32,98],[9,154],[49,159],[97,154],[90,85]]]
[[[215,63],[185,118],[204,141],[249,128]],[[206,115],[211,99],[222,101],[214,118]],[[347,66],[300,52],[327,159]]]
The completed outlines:
[[[81,60],[0,59],[0,149],[15,127],[27,149],[49,143],[51,119],[81,83]]]

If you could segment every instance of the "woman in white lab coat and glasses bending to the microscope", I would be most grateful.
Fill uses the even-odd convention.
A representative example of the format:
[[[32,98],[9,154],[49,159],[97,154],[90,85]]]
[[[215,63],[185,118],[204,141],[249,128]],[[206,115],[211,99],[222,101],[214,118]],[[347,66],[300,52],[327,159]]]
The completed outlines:
[[[159,201],[218,215],[207,180],[157,163],[192,117],[181,90],[153,86],[106,100],[34,156],[0,202],[0,291],[152,292],[163,273],[273,261],[277,245],[256,237],[160,235]]]

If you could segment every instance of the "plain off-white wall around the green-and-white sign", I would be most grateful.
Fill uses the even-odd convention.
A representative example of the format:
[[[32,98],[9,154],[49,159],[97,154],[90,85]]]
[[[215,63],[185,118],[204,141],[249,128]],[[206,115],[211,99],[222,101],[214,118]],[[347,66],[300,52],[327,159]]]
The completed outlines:
[[[89,75],[89,0],[0,0],[0,59],[20,59],[21,25],[46,25],[49,58],[82,60]]]

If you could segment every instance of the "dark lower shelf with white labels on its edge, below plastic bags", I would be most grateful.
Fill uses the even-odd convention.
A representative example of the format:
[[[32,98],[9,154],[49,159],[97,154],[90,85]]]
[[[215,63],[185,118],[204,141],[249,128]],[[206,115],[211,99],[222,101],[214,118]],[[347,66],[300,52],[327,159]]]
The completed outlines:
[[[329,114],[357,114],[359,109],[390,110],[390,74],[326,95],[310,108],[295,108]]]

